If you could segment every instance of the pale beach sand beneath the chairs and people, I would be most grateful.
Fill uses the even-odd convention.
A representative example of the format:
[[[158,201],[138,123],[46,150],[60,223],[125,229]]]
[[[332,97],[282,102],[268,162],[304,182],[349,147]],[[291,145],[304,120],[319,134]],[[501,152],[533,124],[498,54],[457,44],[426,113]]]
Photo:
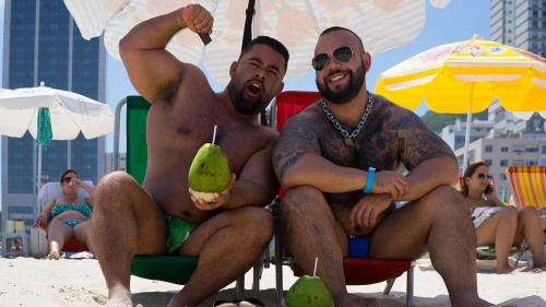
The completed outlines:
[[[520,267],[526,265],[520,262]],[[296,281],[283,268],[284,291]],[[106,303],[106,284],[95,259],[36,260],[0,258],[0,306],[102,306]],[[495,261],[478,261],[478,288],[483,298],[499,306],[546,306],[546,272],[498,275]],[[250,291],[251,271],[246,275],[246,296],[257,297],[268,307],[275,302],[274,265],[264,269],[260,291]],[[216,299],[235,299],[235,283],[206,299],[200,306],[211,307]],[[390,295],[382,295],[384,283],[349,286],[356,305],[361,307],[405,306],[405,274],[399,278]],[[131,276],[132,298],[144,307],[163,307],[178,293],[180,285]],[[428,259],[415,268],[414,306],[450,306],[448,292]]]

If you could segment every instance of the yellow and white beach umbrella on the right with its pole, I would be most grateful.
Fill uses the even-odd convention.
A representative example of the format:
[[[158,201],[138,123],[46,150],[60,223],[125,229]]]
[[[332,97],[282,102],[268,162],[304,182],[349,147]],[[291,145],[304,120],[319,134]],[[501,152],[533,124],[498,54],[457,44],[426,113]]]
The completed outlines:
[[[466,167],[473,113],[485,110],[495,97],[509,111],[546,110],[546,59],[474,35],[384,71],[375,92],[412,110],[425,99],[432,111],[467,114]]]

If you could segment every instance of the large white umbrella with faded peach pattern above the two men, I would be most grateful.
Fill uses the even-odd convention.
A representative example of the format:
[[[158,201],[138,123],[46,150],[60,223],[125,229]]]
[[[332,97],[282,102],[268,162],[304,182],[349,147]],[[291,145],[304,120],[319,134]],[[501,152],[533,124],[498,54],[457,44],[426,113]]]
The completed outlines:
[[[64,0],[85,39],[105,33],[106,50],[119,58],[119,40],[140,22],[199,3],[214,16],[212,43],[204,47],[199,36],[181,31],[167,49],[183,62],[203,60],[212,78],[227,84],[228,67],[239,57],[245,8],[253,0]],[[450,0],[429,0],[446,8]],[[414,40],[423,29],[426,0],[268,0],[256,1],[253,35],[281,40],[290,52],[286,78],[305,75],[319,34],[330,26],[344,26],[357,33],[366,50],[377,56]]]

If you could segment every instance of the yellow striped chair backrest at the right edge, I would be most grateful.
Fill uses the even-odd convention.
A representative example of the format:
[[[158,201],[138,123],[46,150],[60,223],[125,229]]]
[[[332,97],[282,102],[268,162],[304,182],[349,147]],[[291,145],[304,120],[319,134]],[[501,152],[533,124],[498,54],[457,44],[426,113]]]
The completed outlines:
[[[519,209],[546,208],[546,166],[508,166],[507,177]]]

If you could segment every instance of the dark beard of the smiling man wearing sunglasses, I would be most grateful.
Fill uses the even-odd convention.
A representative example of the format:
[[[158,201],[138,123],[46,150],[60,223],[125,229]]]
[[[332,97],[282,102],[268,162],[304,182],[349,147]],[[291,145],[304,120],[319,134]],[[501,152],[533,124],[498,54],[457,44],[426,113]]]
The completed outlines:
[[[328,79],[330,75],[333,73],[340,73],[340,72],[346,72],[347,76],[349,78],[347,85],[345,88],[336,88],[337,91],[334,92],[331,88],[328,87]],[[364,66],[364,61],[361,62],[361,66],[359,66],[355,73],[351,70],[342,71],[342,70],[336,70],[333,71],[331,74],[324,78],[323,84],[320,84],[318,80],[314,80],[317,83],[317,88],[319,88],[320,94],[322,94],[322,97],[324,97],[327,101],[333,103],[333,104],[345,104],[351,102],[356,95],[358,95],[358,92],[360,92],[360,88],[363,87],[364,81],[366,80],[366,67]]]

